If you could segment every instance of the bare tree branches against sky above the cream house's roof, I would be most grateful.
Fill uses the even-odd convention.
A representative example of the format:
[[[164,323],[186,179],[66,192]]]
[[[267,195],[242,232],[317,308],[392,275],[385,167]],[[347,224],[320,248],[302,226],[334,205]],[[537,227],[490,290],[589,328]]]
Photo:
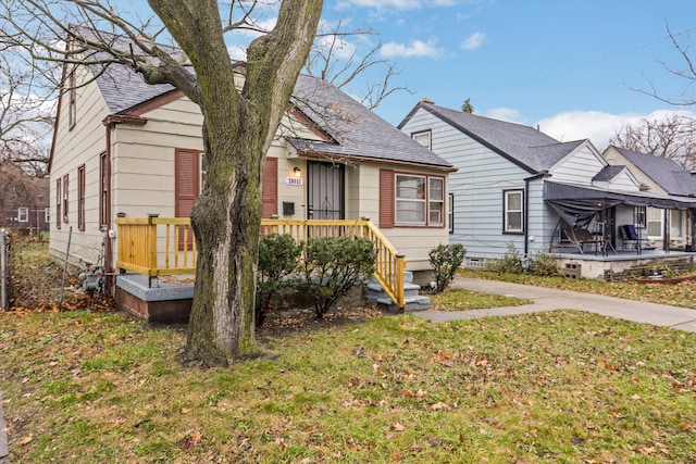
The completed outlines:
[[[363,83],[362,89],[355,88],[360,103],[370,110],[377,108],[387,97],[397,91],[407,91],[412,95],[413,91],[408,86],[394,85],[394,78],[400,71],[389,60],[380,58],[381,41],[361,53],[359,48],[348,40],[357,38],[359,41],[364,41],[366,37],[376,35],[370,27],[346,30],[340,21],[322,23],[304,64],[304,72],[346,90],[351,84],[356,85],[359,78],[363,79],[369,71],[377,71],[378,79],[368,79]]]

